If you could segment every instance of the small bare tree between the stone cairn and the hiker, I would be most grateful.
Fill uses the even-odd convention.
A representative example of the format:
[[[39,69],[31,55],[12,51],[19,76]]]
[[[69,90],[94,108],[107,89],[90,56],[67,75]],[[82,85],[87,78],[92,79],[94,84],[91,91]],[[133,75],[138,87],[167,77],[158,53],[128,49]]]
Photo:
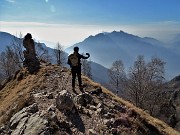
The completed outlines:
[[[56,47],[54,49],[54,55],[57,64],[61,66],[65,61],[65,56],[63,46],[59,42],[56,44]]]

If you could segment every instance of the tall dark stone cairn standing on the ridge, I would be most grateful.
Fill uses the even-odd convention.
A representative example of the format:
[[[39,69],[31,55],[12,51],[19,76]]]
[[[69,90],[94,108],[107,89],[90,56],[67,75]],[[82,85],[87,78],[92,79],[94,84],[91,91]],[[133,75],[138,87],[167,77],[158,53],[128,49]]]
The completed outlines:
[[[34,73],[38,71],[40,68],[40,62],[36,57],[34,40],[30,33],[24,37],[23,46],[26,50],[24,50],[24,58],[23,66],[27,67],[30,73]]]

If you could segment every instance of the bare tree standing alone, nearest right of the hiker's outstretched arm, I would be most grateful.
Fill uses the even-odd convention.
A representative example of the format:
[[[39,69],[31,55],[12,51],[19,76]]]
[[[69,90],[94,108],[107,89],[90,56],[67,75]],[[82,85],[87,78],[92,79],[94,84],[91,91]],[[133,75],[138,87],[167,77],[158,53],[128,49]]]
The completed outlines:
[[[126,81],[126,73],[124,71],[124,65],[121,60],[117,60],[112,63],[111,68],[108,70],[110,77],[110,84],[117,93],[120,89],[123,89],[123,85]]]

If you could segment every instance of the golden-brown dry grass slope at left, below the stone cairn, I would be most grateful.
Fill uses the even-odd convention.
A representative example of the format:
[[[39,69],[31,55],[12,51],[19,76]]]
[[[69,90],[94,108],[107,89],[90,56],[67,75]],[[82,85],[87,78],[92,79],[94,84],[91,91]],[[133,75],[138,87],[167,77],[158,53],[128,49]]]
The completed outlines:
[[[23,73],[22,80],[18,81],[17,78],[11,80],[0,91],[0,125],[9,121],[13,114],[33,102],[30,92],[43,82],[43,72],[38,72],[38,75]]]

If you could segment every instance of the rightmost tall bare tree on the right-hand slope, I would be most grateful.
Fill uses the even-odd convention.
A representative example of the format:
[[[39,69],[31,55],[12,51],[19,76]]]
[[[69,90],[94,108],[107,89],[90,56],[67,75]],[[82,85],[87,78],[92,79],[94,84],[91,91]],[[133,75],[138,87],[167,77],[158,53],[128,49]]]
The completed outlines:
[[[159,107],[163,101],[163,90],[165,81],[165,62],[160,58],[153,57],[147,64],[148,70],[148,96],[146,96],[145,109],[150,111],[150,114],[156,113],[156,107]]]

